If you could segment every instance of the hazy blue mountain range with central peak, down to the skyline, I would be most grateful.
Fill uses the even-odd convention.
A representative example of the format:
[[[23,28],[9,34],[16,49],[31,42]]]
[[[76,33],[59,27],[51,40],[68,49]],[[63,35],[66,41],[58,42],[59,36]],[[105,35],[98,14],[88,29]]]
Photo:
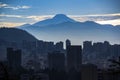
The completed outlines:
[[[46,25],[44,25],[46,23]],[[27,27],[20,27],[38,39],[64,41],[66,38],[77,43],[85,41],[110,41],[119,43],[120,26],[101,25],[93,21],[77,22],[65,15],[56,15]]]

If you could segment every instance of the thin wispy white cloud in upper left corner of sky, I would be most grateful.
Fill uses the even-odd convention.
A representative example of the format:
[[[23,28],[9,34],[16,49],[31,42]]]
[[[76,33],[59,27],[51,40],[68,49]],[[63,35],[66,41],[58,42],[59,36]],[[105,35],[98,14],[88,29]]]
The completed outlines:
[[[23,5],[23,6],[11,6],[11,5],[8,5],[8,4],[0,2],[0,8],[7,8],[7,9],[18,10],[18,9],[29,9],[31,7],[30,6],[26,6],[26,5]]]

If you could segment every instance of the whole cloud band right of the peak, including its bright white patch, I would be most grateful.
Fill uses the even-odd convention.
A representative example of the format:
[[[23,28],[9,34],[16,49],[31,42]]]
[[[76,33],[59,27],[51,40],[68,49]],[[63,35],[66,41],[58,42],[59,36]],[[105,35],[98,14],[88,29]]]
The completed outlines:
[[[94,21],[99,24],[120,25],[120,13],[115,14],[95,14],[95,15],[69,15],[69,17],[79,22]]]

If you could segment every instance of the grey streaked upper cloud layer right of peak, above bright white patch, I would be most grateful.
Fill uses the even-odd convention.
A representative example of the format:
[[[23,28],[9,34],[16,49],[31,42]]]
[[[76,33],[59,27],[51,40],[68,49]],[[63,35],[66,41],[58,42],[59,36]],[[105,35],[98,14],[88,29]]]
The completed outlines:
[[[104,21],[104,20],[114,20],[120,19],[120,13],[116,14],[95,14],[95,15],[69,15],[69,17],[80,21]]]

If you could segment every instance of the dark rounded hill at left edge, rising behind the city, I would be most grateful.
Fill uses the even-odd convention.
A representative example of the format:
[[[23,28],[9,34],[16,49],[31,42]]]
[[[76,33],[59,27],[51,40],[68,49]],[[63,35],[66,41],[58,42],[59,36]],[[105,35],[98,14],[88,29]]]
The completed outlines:
[[[0,28],[0,40],[9,42],[36,41],[37,39],[24,30],[16,28]]]

